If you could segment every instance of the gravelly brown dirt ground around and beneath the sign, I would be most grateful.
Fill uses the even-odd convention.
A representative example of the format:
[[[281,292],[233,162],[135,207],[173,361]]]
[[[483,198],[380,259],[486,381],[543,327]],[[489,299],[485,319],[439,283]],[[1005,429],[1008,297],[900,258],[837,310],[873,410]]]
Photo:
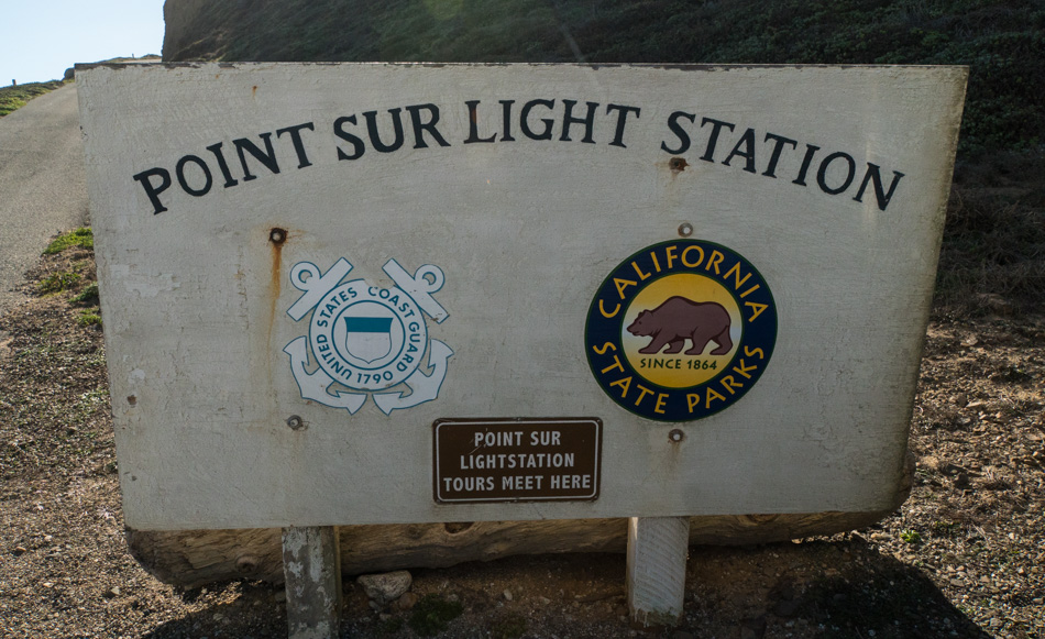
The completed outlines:
[[[46,257],[25,285],[34,299],[0,318],[2,636],[285,637],[278,586],[180,591],[128,553],[97,301],[72,301],[92,279],[89,251]],[[41,294],[42,283],[64,289]],[[880,525],[692,548],[673,629],[628,623],[623,555],[568,554],[413,571],[421,603],[407,610],[373,609],[346,579],[342,635],[1042,639],[1043,407],[1045,318],[937,317],[911,432],[914,488]]]

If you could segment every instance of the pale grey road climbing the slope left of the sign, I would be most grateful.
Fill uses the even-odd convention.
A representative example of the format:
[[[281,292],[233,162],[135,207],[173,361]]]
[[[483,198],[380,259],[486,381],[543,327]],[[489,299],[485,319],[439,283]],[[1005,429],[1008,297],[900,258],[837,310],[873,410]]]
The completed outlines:
[[[87,222],[76,86],[0,119],[0,313],[52,235]]]

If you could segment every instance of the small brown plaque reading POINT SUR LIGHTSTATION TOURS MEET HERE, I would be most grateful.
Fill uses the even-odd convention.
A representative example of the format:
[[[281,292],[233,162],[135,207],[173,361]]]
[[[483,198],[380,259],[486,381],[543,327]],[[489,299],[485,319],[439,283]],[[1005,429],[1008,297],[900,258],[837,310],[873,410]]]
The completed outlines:
[[[439,504],[598,498],[601,419],[439,419],[432,430]]]

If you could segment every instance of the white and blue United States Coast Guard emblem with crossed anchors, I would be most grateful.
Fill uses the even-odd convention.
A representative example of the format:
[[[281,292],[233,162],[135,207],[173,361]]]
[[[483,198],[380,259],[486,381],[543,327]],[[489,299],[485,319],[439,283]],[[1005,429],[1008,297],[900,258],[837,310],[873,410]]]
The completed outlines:
[[[396,286],[342,283],[352,271],[343,257],[326,273],[309,262],[290,269],[290,283],[304,293],[287,315],[301,321],[311,313],[308,335],[283,349],[302,398],[355,415],[373,397],[389,415],[439,395],[453,351],[429,339],[426,317],[437,323],[449,317],[432,297],[443,273],[425,265],[410,275],[395,260],[383,268]],[[430,373],[420,367],[426,354]]]

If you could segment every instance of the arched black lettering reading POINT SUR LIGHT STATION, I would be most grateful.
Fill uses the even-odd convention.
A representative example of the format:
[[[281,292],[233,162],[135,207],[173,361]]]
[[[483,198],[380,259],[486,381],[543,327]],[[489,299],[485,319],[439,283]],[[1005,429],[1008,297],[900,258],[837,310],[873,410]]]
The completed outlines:
[[[518,103],[517,103],[518,102]],[[360,161],[372,148],[378,154],[404,150],[431,152],[451,146],[448,133],[460,134],[464,145],[524,141],[606,144],[617,148],[635,148],[642,141],[629,136],[629,124],[639,120],[642,108],[610,102],[576,99],[534,98],[473,99],[463,102],[468,131],[460,120],[442,123],[442,109],[433,102],[372,109],[334,118],[331,122],[334,155],[338,162]],[[404,123],[404,111],[409,123]],[[362,118],[361,118],[362,115]],[[453,124],[461,130],[452,131]],[[684,155],[695,148],[700,159],[714,165],[739,168],[744,173],[785,180],[827,196],[845,196],[865,203],[873,195],[878,210],[884,211],[899,192],[904,173],[866,161],[853,150],[838,150],[800,141],[795,136],[760,131],[721,117],[702,115],[684,110],[671,111],[663,121],[660,150]],[[315,140],[315,122],[302,122],[254,135],[218,141],[170,158],[165,166],[140,170],[131,179],[141,186],[153,214],[169,210],[172,201],[185,194],[202,198],[213,191],[216,181],[222,188],[267,176],[282,175],[287,166],[304,169],[322,156],[310,153]],[[518,133],[517,133],[518,132]],[[408,136],[413,136],[408,140]],[[654,139],[656,140],[656,139]],[[411,144],[408,144],[410,142]],[[651,141],[657,143],[656,141]],[[648,146],[646,147],[649,148]],[[728,150],[725,152],[724,150]],[[371,157],[375,157],[371,154]],[[177,185],[178,188],[172,188]],[[606,312],[610,308],[606,307]]]

